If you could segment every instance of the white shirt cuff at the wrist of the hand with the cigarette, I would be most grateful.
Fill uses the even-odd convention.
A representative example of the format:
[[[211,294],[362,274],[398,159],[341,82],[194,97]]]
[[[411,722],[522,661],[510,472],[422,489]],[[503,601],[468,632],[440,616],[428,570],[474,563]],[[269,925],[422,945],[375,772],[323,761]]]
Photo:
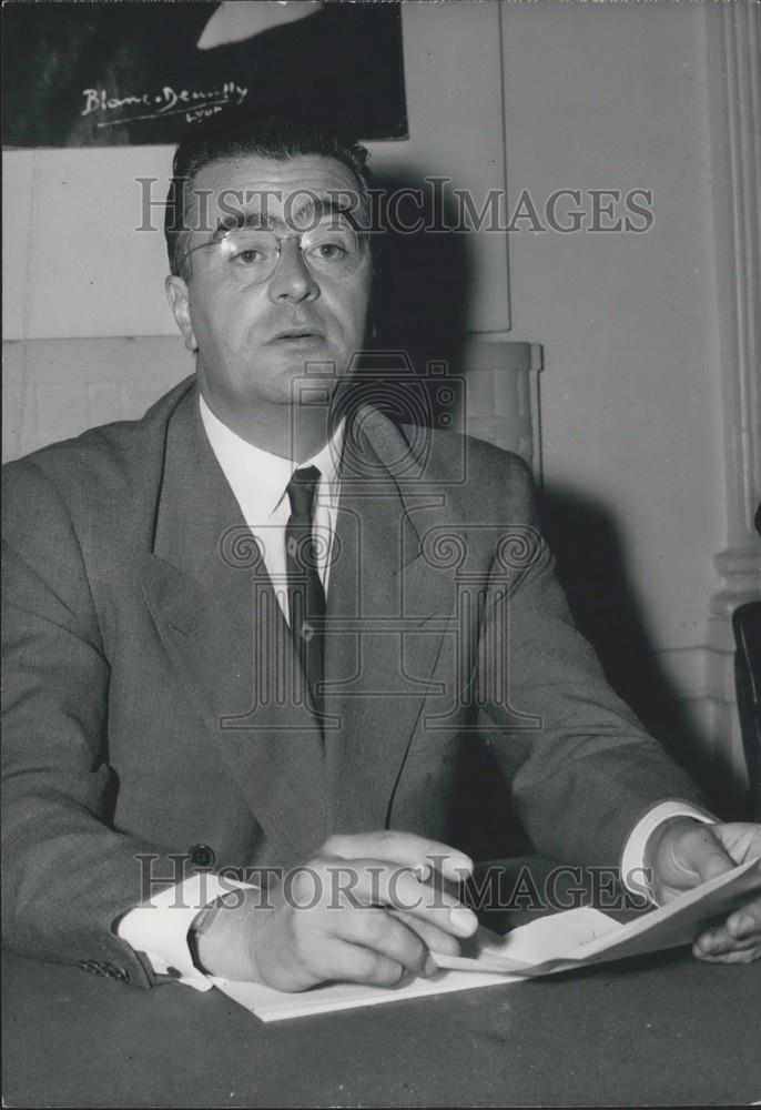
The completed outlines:
[[[204,906],[234,887],[247,888],[225,876],[200,871],[183,882],[153,895],[149,901],[129,910],[116,927],[121,940],[134,951],[144,952],[156,975],[171,975],[195,990],[211,990],[214,983],[193,963],[187,947],[187,931]]]

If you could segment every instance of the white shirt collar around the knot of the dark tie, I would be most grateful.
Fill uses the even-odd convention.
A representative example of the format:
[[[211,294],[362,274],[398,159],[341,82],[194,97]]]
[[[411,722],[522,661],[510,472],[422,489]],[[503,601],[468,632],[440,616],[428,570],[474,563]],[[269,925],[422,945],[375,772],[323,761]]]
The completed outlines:
[[[268,521],[285,497],[294,471],[305,466],[319,470],[321,497],[327,497],[332,503],[337,500],[343,421],[316,455],[303,463],[294,463],[243,440],[214,415],[201,394],[199,401],[209,443],[248,522],[252,518],[261,523]]]

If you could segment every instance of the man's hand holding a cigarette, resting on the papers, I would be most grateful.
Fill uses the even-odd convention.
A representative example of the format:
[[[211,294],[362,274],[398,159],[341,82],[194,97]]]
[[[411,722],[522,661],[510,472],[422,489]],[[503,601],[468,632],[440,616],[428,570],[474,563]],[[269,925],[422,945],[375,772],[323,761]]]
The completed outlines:
[[[473,870],[467,856],[409,833],[331,837],[303,868],[247,890],[197,937],[204,971],[277,990],[328,980],[390,987],[432,973],[430,951],[457,955],[475,915],[447,889]],[[437,871],[444,884],[429,880]]]

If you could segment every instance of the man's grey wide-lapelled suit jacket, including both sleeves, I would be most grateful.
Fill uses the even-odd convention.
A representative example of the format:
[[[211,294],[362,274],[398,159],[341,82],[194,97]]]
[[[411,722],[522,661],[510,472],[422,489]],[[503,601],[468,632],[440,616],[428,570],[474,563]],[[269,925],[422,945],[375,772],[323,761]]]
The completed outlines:
[[[113,922],[182,866],[384,827],[473,850],[508,793],[537,850],[613,864],[649,806],[696,799],[575,629],[514,455],[354,421],[324,739],[192,380],[4,478],[3,912],[30,955],[149,986]]]

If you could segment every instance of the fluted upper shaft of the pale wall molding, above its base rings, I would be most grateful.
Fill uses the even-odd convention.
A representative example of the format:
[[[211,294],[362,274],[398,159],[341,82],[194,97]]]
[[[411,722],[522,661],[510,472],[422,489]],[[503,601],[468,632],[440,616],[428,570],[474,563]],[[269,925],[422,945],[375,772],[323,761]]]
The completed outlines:
[[[757,557],[761,595],[753,526],[761,500],[761,6],[734,0],[707,4],[706,14],[727,490],[727,548],[716,569],[721,596],[740,601],[753,574],[747,555]]]

